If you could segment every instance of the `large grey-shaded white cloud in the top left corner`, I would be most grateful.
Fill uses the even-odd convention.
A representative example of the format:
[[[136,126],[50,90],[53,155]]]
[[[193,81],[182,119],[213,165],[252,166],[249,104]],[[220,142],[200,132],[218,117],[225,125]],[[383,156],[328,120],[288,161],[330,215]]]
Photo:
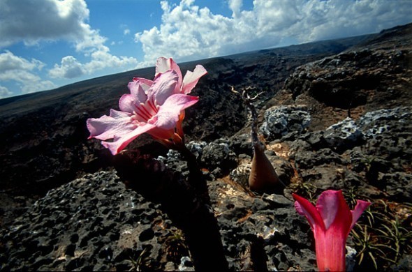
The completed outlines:
[[[0,1],[0,46],[23,41],[86,40],[95,36],[84,21],[89,10],[83,0]]]

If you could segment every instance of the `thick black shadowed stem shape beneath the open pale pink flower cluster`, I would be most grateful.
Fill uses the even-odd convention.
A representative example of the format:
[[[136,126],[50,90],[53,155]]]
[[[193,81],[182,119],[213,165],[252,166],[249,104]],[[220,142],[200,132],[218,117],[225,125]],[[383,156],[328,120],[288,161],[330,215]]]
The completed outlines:
[[[188,181],[159,160],[140,156],[138,152],[119,154],[114,162],[118,176],[128,188],[161,204],[163,211],[182,229],[196,271],[228,270],[219,227],[200,170],[196,174],[196,169],[190,167]]]

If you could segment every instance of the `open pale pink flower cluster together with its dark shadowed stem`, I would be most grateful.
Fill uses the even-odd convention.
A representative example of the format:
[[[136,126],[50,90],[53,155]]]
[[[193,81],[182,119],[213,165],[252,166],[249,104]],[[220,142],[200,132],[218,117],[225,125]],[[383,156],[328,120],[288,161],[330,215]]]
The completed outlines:
[[[120,110],[110,109],[109,116],[87,119],[87,128],[89,138],[100,139],[113,155],[123,151],[143,133],[182,154],[189,167],[189,177],[186,186],[176,184],[182,190],[175,197],[183,199],[185,205],[180,205],[172,215],[179,213],[179,227],[184,231],[196,271],[226,271],[228,263],[224,257],[216,218],[209,209],[207,184],[196,156],[184,144],[182,129],[184,110],[199,100],[189,93],[205,74],[205,68],[198,65],[193,72],[187,71],[182,77],[173,59],[161,57],[156,62],[154,80],[134,78],[128,84],[130,93],[124,94],[119,100]],[[128,156],[122,154],[117,157]],[[138,169],[138,165],[133,164],[135,161],[121,161],[116,169],[122,179],[132,183],[141,182],[141,173],[134,172]],[[185,202],[184,199],[188,200]],[[164,204],[169,206],[170,202],[167,201]]]

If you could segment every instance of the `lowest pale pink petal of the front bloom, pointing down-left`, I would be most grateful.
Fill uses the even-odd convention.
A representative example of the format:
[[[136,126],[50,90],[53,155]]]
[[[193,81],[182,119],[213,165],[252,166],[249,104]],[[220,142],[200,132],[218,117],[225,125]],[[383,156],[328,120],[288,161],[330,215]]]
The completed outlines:
[[[105,148],[109,149],[113,155],[116,155],[122,151],[133,139],[142,135],[143,133],[149,133],[149,130],[156,128],[156,126],[146,123],[145,125],[135,127],[133,130],[123,130],[122,134],[115,135],[112,142],[101,142]]]

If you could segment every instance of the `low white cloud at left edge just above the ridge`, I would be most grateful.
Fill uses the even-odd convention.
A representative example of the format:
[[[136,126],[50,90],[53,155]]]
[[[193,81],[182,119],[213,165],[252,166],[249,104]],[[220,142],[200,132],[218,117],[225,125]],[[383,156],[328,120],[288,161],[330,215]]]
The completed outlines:
[[[0,54],[0,81],[17,82],[22,93],[53,89],[56,87],[54,83],[42,80],[36,75],[44,66],[45,64],[37,59],[24,59],[6,50]],[[6,87],[0,87],[0,98],[13,95]]]

